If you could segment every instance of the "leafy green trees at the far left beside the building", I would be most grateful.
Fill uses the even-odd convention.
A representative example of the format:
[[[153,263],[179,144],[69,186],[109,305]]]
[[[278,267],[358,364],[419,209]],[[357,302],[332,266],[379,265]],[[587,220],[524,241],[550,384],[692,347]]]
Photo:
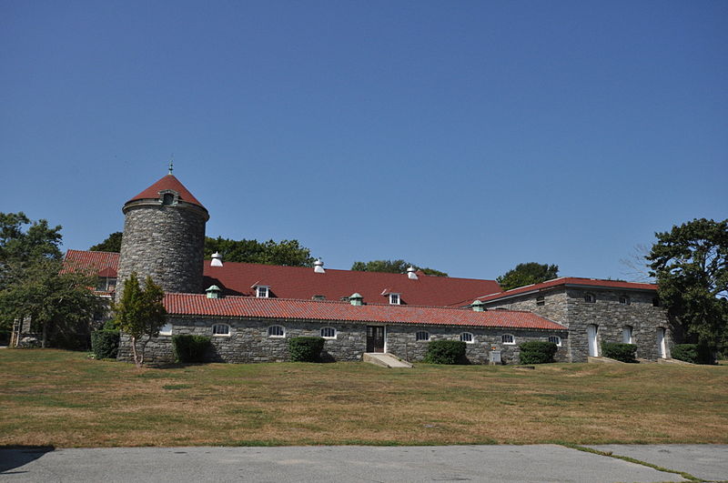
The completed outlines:
[[[30,317],[43,333],[43,347],[53,338],[68,347],[103,310],[88,289],[96,287],[96,277],[61,273],[60,230],[43,219],[31,222],[22,212],[0,213],[0,324],[9,328],[15,319]]]

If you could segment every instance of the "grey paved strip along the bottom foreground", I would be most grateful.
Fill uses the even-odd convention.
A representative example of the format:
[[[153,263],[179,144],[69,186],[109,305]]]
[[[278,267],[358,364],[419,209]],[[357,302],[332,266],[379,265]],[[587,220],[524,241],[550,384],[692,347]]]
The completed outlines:
[[[601,447],[606,448],[606,447]],[[710,455],[728,478],[728,446],[609,447],[673,463]],[[660,463],[655,463],[660,464]],[[701,467],[703,467],[703,464]],[[677,465],[662,465],[671,466]],[[711,478],[713,478],[711,477]],[[716,479],[717,479],[716,478]],[[0,449],[0,481],[685,481],[679,475],[556,445],[450,447]]]

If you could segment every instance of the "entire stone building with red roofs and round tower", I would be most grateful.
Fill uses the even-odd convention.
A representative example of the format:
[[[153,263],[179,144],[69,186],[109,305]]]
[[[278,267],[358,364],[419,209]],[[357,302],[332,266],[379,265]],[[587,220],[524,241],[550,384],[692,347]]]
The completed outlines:
[[[147,345],[147,360],[171,360],[176,334],[211,337],[208,358],[226,362],[287,360],[287,339],[296,336],[323,337],[332,360],[387,352],[417,361],[437,339],[466,342],[476,364],[493,357],[517,363],[519,345],[530,340],[556,343],[561,361],[599,355],[600,341],[634,342],[646,359],[669,356],[654,286],[560,278],[501,292],[493,280],[432,277],[414,268],[357,272],[320,261],[277,267],[227,263],[217,254],[204,261],[207,209],[171,171],[122,211],[121,253],[69,250],[66,267],[96,267],[106,294],[133,271],[165,289],[167,325]],[[119,358],[129,357],[122,337]]]

